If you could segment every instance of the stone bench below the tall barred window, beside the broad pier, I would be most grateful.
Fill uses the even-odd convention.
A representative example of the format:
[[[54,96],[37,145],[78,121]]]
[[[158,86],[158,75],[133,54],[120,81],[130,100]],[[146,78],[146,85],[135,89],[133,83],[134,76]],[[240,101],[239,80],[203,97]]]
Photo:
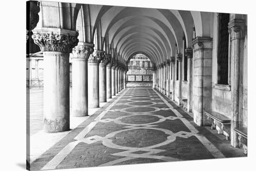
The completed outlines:
[[[218,113],[218,112],[204,112],[204,114],[213,120],[211,129],[216,129],[218,134],[226,136],[226,140],[229,140],[231,122],[230,118]]]

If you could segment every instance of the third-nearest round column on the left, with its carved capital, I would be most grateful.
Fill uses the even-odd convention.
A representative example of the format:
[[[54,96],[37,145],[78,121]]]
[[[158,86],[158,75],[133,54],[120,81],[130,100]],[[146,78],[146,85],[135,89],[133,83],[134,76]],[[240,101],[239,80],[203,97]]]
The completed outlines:
[[[88,106],[100,107],[99,63],[104,58],[104,51],[96,50],[88,59]]]

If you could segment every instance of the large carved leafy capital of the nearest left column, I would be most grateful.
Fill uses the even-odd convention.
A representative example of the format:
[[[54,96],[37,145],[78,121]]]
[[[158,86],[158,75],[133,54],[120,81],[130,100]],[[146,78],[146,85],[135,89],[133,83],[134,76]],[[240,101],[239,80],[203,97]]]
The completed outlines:
[[[40,47],[42,52],[63,52],[63,53],[71,53],[74,46],[78,44],[78,32],[76,34],[70,35],[59,34],[59,33],[34,33],[32,35],[32,39],[34,39],[34,43]]]

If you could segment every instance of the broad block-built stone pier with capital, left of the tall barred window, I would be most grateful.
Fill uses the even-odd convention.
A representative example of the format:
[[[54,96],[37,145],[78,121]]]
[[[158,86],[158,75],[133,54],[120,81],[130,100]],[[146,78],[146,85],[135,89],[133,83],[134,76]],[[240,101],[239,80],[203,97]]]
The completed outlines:
[[[212,76],[211,69],[204,67],[204,59],[211,62],[212,59],[212,38],[196,37],[192,41],[193,61],[195,63],[193,75],[193,113],[194,122],[203,126],[209,124],[204,111],[211,112],[211,89]],[[206,72],[204,72],[206,71]],[[208,72],[207,72],[208,71]]]

